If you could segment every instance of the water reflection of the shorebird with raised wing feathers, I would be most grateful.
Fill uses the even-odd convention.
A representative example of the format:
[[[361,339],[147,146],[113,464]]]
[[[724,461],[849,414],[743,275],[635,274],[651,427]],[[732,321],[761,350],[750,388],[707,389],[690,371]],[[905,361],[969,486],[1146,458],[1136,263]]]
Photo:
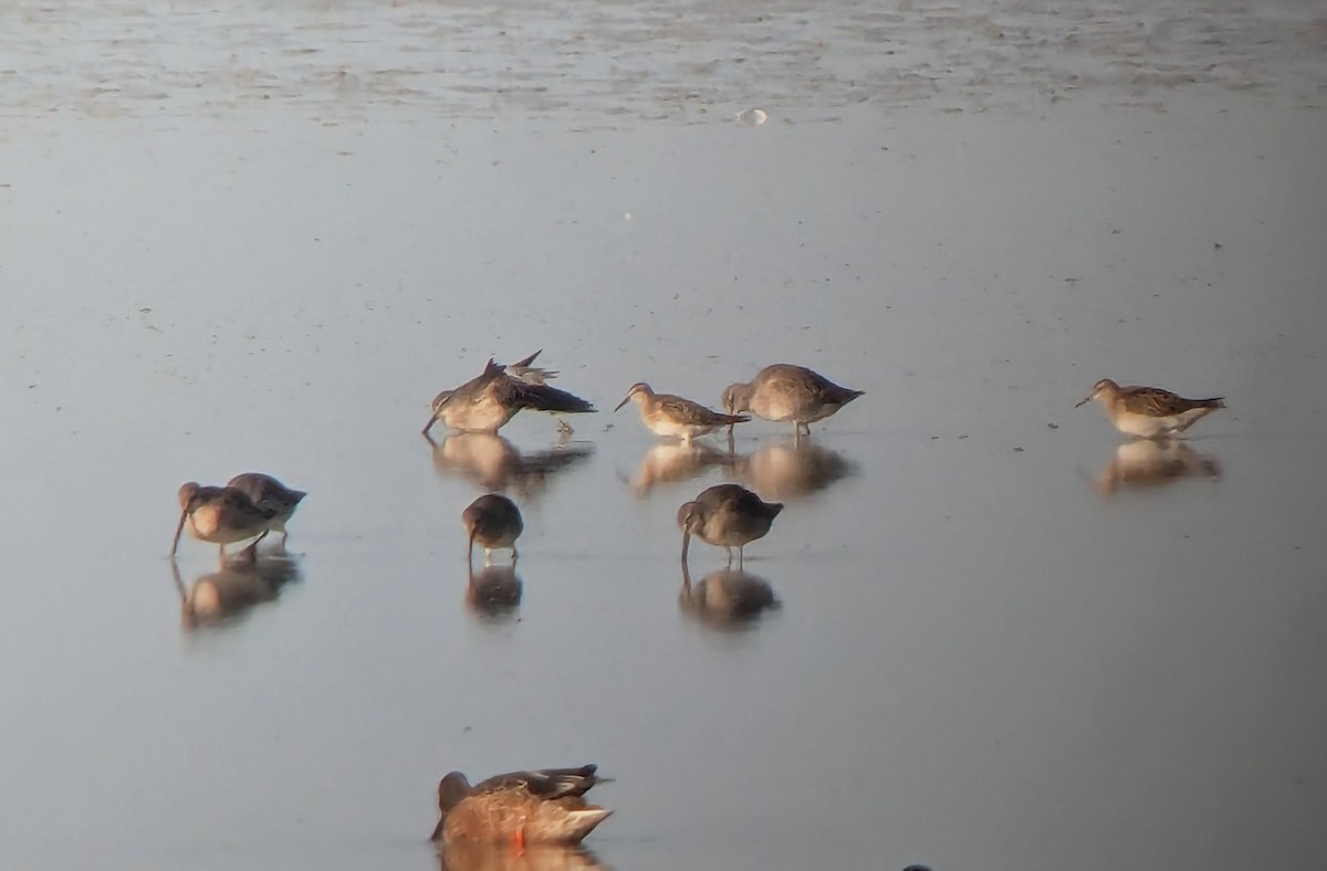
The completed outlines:
[[[488,432],[456,432],[442,441],[425,437],[433,447],[433,468],[438,475],[460,475],[486,491],[543,491],[551,475],[594,452],[587,441],[571,441],[548,451],[522,453],[507,439]]]

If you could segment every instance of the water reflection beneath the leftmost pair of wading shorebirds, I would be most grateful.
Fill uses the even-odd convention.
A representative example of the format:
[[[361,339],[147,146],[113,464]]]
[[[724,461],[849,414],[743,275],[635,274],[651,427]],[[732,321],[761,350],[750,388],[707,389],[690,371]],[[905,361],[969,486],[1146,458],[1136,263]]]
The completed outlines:
[[[199,575],[187,589],[174,559],[170,570],[186,628],[232,624],[255,605],[276,599],[283,586],[300,579],[299,563],[287,555],[232,559],[218,571]]]

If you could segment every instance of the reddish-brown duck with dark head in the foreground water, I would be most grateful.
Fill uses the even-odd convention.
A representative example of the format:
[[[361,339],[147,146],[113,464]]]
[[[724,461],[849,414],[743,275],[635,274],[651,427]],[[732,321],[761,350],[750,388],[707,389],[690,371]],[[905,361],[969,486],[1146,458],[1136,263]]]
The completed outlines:
[[[511,772],[470,785],[460,772],[438,784],[442,817],[433,841],[455,843],[580,843],[613,811],[583,795],[604,778],[597,766]]]

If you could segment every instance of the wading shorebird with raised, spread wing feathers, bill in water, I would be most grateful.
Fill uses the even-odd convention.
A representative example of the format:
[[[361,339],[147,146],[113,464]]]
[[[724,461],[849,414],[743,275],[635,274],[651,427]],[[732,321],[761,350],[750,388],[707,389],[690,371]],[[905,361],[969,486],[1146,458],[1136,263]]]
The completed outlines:
[[[529,367],[531,354],[520,363],[503,366],[492,358],[484,371],[455,390],[445,390],[433,400],[433,416],[423,427],[427,436],[433,424],[442,420],[462,432],[498,432],[523,408],[553,414],[584,414],[594,406],[565,390],[544,383],[556,373]],[[512,373],[518,374],[512,374]]]

